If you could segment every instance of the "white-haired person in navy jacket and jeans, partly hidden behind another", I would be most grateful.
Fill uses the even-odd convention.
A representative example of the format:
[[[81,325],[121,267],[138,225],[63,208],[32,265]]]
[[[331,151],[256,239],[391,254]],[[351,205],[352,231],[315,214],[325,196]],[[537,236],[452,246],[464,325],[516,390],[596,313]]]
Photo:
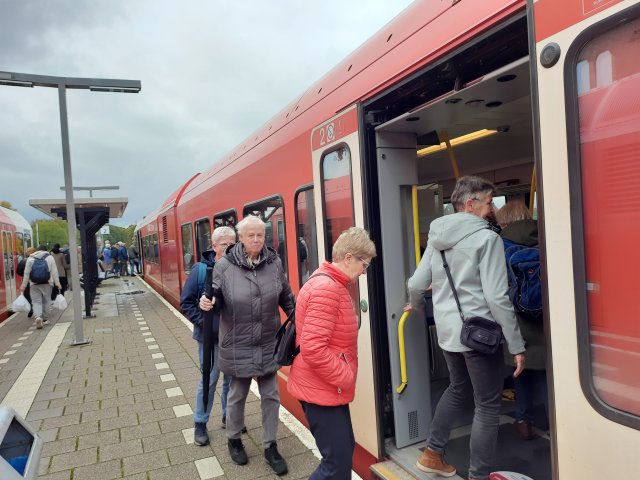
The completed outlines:
[[[187,277],[187,281],[184,284],[182,295],[180,296],[180,308],[182,313],[193,323],[193,335],[192,338],[198,342],[198,358],[200,359],[200,371],[203,369],[203,334],[202,323],[204,321],[204,313],[200,310],[198,303],[202,292],[204,290],[204,276],[200,274],[200,269],[207,267],[213,267],[216,260],[222,258],[225,249],[229,245],[236,243],[236,232],[231,227],[218,227],[213,231],[211,236],[211,249],[205,250],[202,253],[202,260],[196,263],[191,269],[191,273]],[[202,279],[202,280],[200,280]],[[202,283],[201,283],[202,282]],[[209,397],[207,405],[205,406],[202,398],[203,383],[202,377],[198,384],[198,394],[196,396],[196,408],[193,412],[194,433],[193,441],[196,445],[204,446],[209,444],[209,434],[207,433],[207,422],[211,415],[211,408],[213,406],[213,396],[218,385],[218,378],[220,377],[220,368],[218,365],[218,328],[219,328],[220,315],[218,312],[214,313],[213,317],[213,352],[211,361],[211,372],[209,375]],[[228,376],[225,375],[225,381],[228,383]],[[226,399],[225,399],[226,400]],[[226,403],[226,401],[224,402]],[[226,405],[223,405],[222,414],[226,413]]]

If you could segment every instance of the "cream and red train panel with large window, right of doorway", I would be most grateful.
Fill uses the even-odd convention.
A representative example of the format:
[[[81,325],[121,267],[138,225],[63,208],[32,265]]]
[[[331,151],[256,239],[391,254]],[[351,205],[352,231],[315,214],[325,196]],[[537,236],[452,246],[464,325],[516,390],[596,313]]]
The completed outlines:
[[[548,206],[538,201],[548,232],[554,478],[593,477],[583,460],[594,458],[607,458],[610,478],[624,477],[640,428],[640,327],[629,321],[638,312],[629,265],[640,242],[640,4],[530,6],[538,198]]]

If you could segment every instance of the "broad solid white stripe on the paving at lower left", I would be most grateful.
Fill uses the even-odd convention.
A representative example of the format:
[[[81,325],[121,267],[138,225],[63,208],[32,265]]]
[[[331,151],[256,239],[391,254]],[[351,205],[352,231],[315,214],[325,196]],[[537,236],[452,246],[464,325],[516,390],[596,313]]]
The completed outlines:
[[[51,327],[51,331],[47,334],[47,337],[38,348],[38,351],[33,355],[25,369],[22,371],[16,382],[11,387],[11,390],[7,393],[2,400],[2,403],[9,405],[21,415],[26,417],[33,400],[36,398],[36,394],[40,389],[42,380],[53,361],[53,358],[58,353],[58,348],[64,340],[64,336],[71,323],[57,323]]]

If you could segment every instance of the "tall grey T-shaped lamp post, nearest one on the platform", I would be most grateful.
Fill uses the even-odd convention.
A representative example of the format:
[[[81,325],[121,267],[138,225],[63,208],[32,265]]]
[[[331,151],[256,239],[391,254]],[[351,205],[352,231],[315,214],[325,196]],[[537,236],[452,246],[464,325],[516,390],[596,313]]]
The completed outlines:
[[[91,90],[93,92],[138,93],[142,88],[139,80],[114,80],[106,78],[72,78],[34,75],[29,73],[0,72],[0,85],[16,87],[52,87],[58,89],[60,103],[60,130],[62,133],[62,161],[67,203],[67,227],[71,260],[71,285],[73,287],[73,324],[75,339],[73,345],[85,345],[82,325],[82,303],[80,298],[80,276],[76,244],[76,209],[73,202],[73,182],[71,178],[71,154],[69,150],[69,123],[67,121],[67,89]]]

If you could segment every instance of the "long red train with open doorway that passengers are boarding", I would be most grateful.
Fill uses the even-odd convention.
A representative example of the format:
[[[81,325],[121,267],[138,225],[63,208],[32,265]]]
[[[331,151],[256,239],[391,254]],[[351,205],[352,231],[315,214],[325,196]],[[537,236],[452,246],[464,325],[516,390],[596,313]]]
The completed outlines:
[[[426,315],[402,316],[406,280],[430,221],[451,211],[456,179],[483,176],[496,201],[524,201],[538,219],[548,350],[548,422],[542,412],[535,439],[522,441],[505,401],[495,465],[535,479],[631,475],[639,31],[635,1],[417,1],[147,216],[145,276],[177,304],[211,231],[254,214],[297,291],[342,230],[368,229],[379,256],[352,292],[354,469],[424,478],[415,460],[447,372],[428,297]],[[287,375],[283,404],[304,421]],[[447,452],[462,475],[472,414]]]

